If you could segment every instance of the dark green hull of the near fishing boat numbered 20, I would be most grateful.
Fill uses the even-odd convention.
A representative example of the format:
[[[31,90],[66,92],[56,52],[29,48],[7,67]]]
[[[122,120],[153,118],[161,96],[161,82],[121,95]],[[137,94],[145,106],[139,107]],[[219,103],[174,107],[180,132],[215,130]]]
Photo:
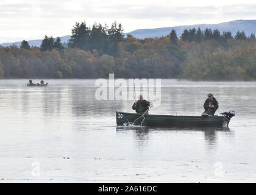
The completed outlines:
[[[116,112],[117,126],[126,126],[129,122],[134,125],[148,127],[224,127],[227,121],[224,116],[172,116],[144,115],[138,113]],[[140,117],[140,118],[139,118]]]

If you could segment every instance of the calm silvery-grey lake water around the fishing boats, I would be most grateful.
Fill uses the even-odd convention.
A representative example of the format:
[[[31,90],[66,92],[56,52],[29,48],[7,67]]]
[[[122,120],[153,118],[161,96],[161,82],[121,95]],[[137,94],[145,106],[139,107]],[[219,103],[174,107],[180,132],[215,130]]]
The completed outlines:
[[[0,80],[0,181],[256,182],[256,82],[162,80],[152,114],[201,115],[213,93],[216,115],[236,116],[229,129],[153,129],[116,127],[133,101],[97,101],[95,80],[46,81]]]

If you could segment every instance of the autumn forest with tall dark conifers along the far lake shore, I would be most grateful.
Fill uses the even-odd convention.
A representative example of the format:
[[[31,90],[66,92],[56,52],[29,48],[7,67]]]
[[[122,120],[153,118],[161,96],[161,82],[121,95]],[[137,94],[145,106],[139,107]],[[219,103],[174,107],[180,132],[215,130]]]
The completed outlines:
[[[1,79],[116,78],[255,80],[256,40],[243,31],[185,29],[143,40],[127,35],[114,22],[76,23],[71,38],[45,35],[40,47],[23,40],[20,47],[0,46]]]

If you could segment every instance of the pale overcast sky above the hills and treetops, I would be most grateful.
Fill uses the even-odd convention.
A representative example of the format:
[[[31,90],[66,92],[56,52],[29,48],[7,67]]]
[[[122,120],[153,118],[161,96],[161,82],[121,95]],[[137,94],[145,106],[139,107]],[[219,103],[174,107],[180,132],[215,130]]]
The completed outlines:
[[[76,21],[135,29],[256,19],[256,0],[0,0],[0,43],[70,35]]]

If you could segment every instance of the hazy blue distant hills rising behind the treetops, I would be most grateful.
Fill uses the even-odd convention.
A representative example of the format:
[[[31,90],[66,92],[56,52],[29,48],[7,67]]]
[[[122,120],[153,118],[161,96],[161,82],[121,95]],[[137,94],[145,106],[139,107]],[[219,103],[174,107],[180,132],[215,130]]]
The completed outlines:
[[[211,29],[218,29],[220,32],[224,30],[230,30],[232,35],[235,35],[238,30],[244,30],[247,36],[251,35],[252,33],[256,34],[256,19],[254,20],[235,20],[226,23],[219,23],[219,24],[194,24],[188,26],[173,26],[173,27],[162,27],[157,29],[138,29],[133,30],[132,32],[127,32],[127,34],[133,35],[136,38],[152,38],[152,37],[162,37],[168,35],[172,29],[176,30],[178,36],[180,36],[184,29],[192,29],[193,27],[201,28],[202,30],[206,28]],[[69,35],[60,37],[63,43],[68,43],[70,38]],[[30,46],[40,46],[42,40],[30,40],[28,41]],[[20,46],[21,41],[14,42],[14,43],[1,43],[0,46],[11,46],[16,45]]]

